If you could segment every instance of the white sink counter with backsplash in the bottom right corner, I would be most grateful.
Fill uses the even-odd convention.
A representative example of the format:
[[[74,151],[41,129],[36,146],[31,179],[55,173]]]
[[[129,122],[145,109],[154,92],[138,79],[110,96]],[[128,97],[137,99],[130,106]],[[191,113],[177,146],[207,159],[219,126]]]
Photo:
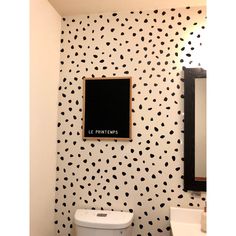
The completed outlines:
[[[173,236],[206,236],[201,231],[203,209],[171,207],[170,225]]]

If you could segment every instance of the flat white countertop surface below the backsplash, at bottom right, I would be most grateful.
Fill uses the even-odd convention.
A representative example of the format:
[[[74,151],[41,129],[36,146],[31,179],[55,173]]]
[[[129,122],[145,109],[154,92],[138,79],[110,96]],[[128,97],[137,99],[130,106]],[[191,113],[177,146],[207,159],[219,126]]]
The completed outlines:
[[[200,224],[182,223],[171,221],[171,229],[173,236],[206,236],[206,233],[201,231]]]

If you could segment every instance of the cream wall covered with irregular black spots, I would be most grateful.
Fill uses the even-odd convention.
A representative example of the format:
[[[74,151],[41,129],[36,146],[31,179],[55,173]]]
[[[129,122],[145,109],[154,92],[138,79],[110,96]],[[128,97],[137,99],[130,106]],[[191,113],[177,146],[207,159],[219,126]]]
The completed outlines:
[[[182,67],[204,58],[204,7],[62,19],[56,235],[77,208],[134,213],[132,236],[169,236],[170,206],[203,207],[183,190]],[[83,140],[83,78],[132,77],[132,140]]]

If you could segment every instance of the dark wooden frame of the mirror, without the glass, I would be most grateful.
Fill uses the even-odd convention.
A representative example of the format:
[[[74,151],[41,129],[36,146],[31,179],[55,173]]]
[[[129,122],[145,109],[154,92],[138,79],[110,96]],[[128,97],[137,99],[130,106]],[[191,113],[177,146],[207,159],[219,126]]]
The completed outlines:
[[[195,79],[207,78],[202,68],[184,70],[184,189],[206,191],[206,181],[195,180]]]

